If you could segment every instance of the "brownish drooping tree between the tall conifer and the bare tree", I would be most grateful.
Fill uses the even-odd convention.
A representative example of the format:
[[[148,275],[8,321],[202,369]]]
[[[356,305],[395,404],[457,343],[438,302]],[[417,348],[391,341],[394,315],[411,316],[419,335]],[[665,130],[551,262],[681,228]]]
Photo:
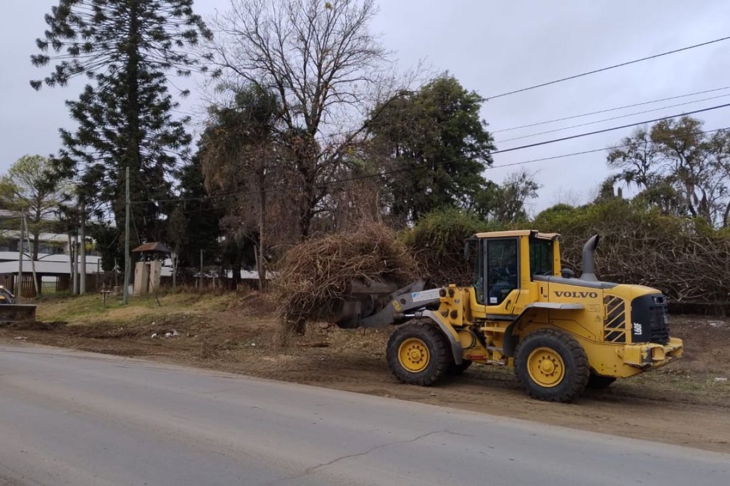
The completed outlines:
[[[266,245],[269,229],[290,232],[272,211],[281,202],[274,194],[285,181],[285,161],[274,128],[281,113],[277,95],[257,85],[233,89],[229,106],[213,106],[210,123],[199,150],[205,183],[225,208],[221,227],[226,236],[223,256],[240,278],[253,249],[258,262],[259,286],[265,285]],[[266,224],[272,219],[277,227]]]

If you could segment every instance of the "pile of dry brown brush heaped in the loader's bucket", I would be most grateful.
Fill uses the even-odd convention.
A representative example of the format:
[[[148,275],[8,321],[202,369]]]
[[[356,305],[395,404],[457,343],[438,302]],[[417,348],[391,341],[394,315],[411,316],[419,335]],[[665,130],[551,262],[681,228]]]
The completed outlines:
[[[301,333],[307,320],[327,321],[351,281],[405,285],[418,274],[409,251],[380,224],[300,243],[284,254],[277,270],[274,296],[288,333]]]

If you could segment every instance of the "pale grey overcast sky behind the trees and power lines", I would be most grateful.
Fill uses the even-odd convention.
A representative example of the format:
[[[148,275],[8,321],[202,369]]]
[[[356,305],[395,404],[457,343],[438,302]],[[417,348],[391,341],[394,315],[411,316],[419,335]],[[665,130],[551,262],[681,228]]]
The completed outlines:
[[[225,10],[230,0],[197,0],[204,16]],[[23,154],[57,152],[58,128],[72,128],[64,101],[75,99],[84,80],[68,87],[36,92],[29,79],[45,75],[29,56],[45,29],[43,16],[58,0],[5,1],[0,30],[0,171]],[[404,68],[426,59],[435,71],[449,71],[469,90],[491,95],[547,82],[594,68],[685,47],[729,35],[730,1],[726,0],[383,0],[372,29],[396,52]],[[629,103],[730,86],[730,41],[699,47],[655,60],[616,68],[485,103],[482,116],[491,130],[545,119],[609,109]],[[583,128],[498,143],[498,149],[598,130],[645,119],[730,103],[730,90],[676,101],[664,101],[593,117],[496,133],[505,138],[553,130],[675,103],[728,95],[687,106],[637,114]],[[195,95],[185,110],[200,106]],[[699,117],[706,129],[730,126],[730,109]],[[577,138],[557,144],[494,156],[495,165],[558,154],[602,149],[631,129]],[[609,173],[605,153],[596,152],[524,165],[543,185],[532,211],[558,201],[585,202]],[[494,168],[490,179],[501,181],[515,170]],[[576,201],[577,202],[577,201]]]

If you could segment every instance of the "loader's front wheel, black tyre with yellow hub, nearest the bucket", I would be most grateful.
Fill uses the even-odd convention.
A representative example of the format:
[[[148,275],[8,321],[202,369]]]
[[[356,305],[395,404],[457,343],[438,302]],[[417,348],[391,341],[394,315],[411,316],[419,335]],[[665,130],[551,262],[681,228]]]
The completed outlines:
[[[404,364],[407,360],[402,355],[407,351],[405,348],[410,342],[420,342],[416,345],[419,348],[417,353],[426,354],[426,350],[428,352],[422,369],[418,369],[418,358],[415,358],[416,362],[410,363],[411,369]],[[396,329],[388,340],[385,357],[391,372],[401,383],[421,386],[436,383],[453,362],[450,347],[441,330],[433,324],[420,322],[403,324]]]

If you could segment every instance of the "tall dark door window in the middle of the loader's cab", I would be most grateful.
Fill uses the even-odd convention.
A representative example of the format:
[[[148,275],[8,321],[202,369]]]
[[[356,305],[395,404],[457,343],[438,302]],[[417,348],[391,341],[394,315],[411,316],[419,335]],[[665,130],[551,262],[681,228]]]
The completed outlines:
[[[500,305],[518,283],[518,239],[486,240],[487,305]]]

